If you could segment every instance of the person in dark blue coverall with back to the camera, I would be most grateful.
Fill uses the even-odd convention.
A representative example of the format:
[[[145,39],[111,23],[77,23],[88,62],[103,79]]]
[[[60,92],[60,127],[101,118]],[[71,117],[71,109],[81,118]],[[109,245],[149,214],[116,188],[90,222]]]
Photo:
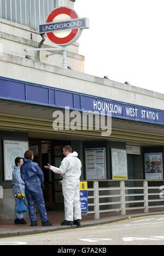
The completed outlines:
[[[48,220],[44,197],[44,174],[37,163],[33,161],[33,152],[28,150],[24,155],[24,164],[21,166],[21,178],[25,182],[25,194],[28,202],[31,226],[37,226],[37,216],[35,212],[36,204],[39,210],[42,226],[52,226]]]

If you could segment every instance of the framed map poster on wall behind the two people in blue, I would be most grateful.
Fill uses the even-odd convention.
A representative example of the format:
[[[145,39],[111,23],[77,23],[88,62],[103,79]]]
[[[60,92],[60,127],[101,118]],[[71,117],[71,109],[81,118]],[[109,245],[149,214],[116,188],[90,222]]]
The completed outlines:
[[[4,140],[4,180],[12,180],[16,157],[24,157],[28,141]]]

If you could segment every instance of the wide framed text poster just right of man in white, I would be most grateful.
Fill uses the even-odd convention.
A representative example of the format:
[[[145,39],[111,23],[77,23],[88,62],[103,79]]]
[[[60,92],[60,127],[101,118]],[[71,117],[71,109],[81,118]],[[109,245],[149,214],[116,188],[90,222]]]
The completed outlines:
[[[85,149],[85,167],[87,180],[106,179],[106,149]]]

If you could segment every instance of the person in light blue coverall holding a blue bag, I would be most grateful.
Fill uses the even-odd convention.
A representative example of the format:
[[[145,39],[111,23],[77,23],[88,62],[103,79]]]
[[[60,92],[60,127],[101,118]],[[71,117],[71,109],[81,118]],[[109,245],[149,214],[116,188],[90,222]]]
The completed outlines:
[[[15,167],[13,170],[13,195],[17,193],[25,194],[25,183],[21,179],[20,174],[20,168],[22,164],[24,163],[22,157],[16,157],[15,158]],[[17,203],[19,201],[19,198],[15,198],[15,221],[14,223],[16,225],[25,225],[27,224],[26,220],[24,219],[24,215],[22,213],[17,213]]]

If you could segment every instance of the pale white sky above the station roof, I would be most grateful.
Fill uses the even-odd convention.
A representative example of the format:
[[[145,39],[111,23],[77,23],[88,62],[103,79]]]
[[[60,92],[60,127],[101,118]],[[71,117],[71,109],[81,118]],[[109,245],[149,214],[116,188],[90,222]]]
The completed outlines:
[[[85,73],[164,93],[164,1],[76,0]]]

